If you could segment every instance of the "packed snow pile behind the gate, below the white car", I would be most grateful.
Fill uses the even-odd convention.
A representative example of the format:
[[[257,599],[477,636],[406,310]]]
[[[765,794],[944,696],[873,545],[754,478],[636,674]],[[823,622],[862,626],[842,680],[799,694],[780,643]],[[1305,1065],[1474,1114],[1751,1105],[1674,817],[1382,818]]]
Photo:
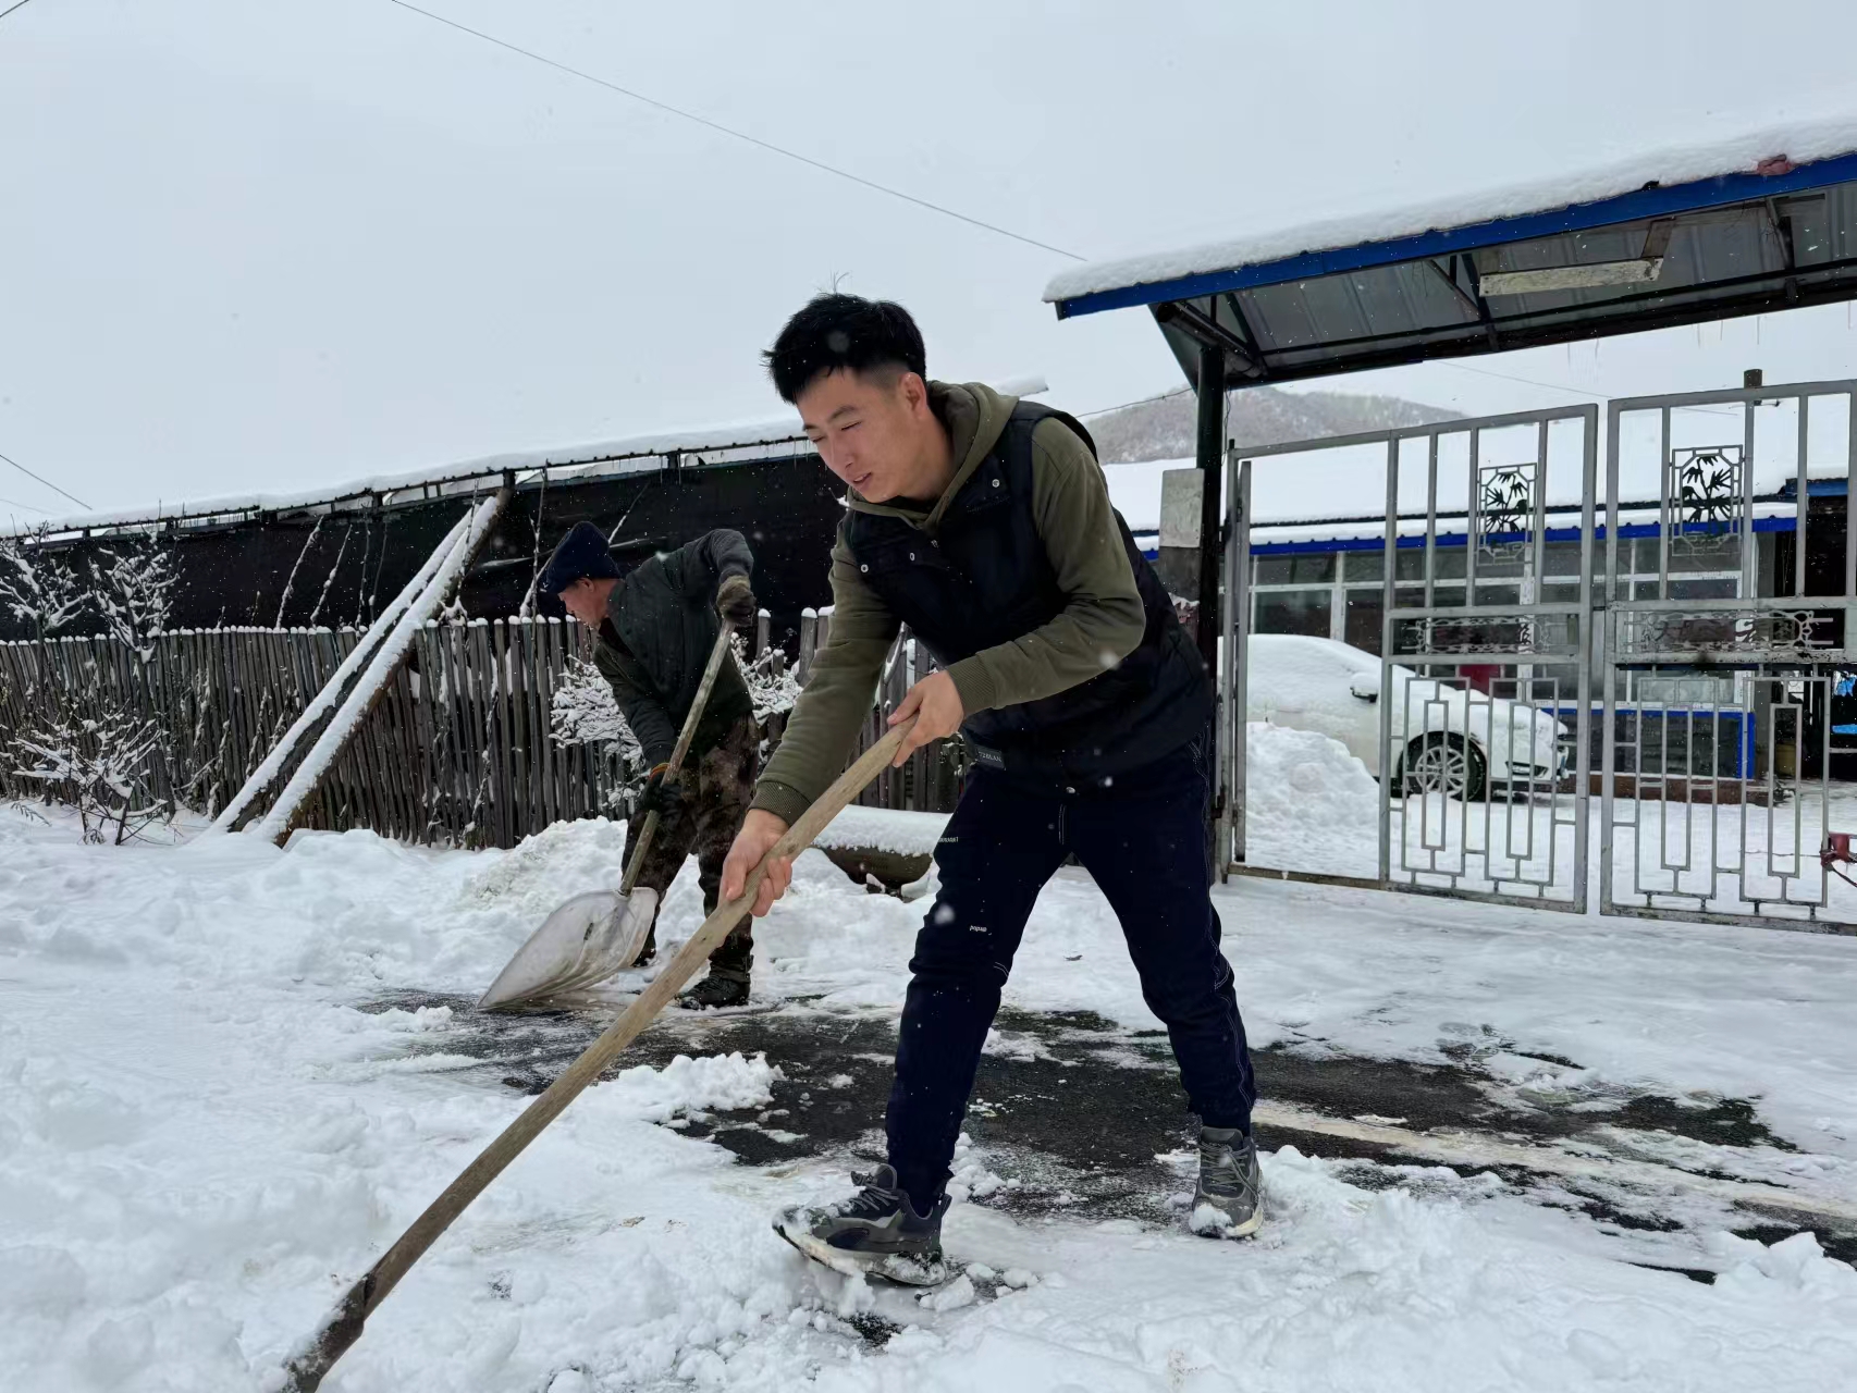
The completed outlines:
[[[1346,745],[1250,721],[1244,750],[1246,864],[1378,875],[1380,782]]]

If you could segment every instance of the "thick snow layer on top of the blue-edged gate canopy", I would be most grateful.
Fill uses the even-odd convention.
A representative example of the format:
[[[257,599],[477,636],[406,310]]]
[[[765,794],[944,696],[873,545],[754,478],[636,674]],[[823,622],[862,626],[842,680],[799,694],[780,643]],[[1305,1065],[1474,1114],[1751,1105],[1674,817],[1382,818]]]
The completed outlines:
[[[1497,189],[1460,193],[1450,199],[1356,214],[1291,228],[1207,241],[1196,247],[1157,251],[1088,262],[1058,271],[1045,286],[1045,301],[1068,301],[1105,290],[1123,290],[1188,275],[1259,266],[1304,253],[1359,247],[1422,232],[1474,227],[1502,217],[1552,212],[1632,193],[1647,184],[1690,184],[1718,175],[1766,173],[1764,162],[1785,156],[1792,165],[1857,150],[1857,115],[1835,121],[1792,123],[1749,132],[1712,145],[1688,145],[1634,154],[1601,169],[1558,178],[1530,180]]]

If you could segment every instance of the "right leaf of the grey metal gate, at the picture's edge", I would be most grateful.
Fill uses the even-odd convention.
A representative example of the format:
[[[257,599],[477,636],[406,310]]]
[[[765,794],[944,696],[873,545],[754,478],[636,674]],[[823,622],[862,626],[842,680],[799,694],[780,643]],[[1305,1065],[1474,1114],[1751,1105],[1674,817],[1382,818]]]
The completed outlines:
[[[1857,932],[1853,461],[1851,381],[1612,403],[1603,914]]]

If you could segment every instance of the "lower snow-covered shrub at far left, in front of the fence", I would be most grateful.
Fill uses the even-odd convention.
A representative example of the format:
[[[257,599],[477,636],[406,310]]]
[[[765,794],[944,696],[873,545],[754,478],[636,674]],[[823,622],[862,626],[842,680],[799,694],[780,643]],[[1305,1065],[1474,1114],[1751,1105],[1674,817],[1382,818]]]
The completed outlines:
[[[175,814],[149,789],[149,756],[160,739],[160,728],[147,717],[117,706],[85,713],[59,693],[54,708],[19,732],[4,754],[13,780],[37,784],[46,802],[78,810],[85,841],[121,845]]]

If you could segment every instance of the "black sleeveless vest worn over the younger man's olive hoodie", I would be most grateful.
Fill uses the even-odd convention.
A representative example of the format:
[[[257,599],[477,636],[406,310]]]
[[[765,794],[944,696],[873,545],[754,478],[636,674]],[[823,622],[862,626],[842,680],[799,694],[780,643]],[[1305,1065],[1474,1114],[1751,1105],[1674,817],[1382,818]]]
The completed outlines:
[[[854,509],[845,518],[864,581],[943,667],[1021,639],[1064,609],[1032,514],[1032,429],[1045,416],[1096,451],[1075,418],[1019,401],[934,539],[880,513]],[[1200,654],[1120,513],[1116,527],[1148,618],[1140,646],[1075,687],[969,715],[960,730],[980,765],[1040,784],[1099,784],[1177,750],[1211,717],[1213,683]]]

